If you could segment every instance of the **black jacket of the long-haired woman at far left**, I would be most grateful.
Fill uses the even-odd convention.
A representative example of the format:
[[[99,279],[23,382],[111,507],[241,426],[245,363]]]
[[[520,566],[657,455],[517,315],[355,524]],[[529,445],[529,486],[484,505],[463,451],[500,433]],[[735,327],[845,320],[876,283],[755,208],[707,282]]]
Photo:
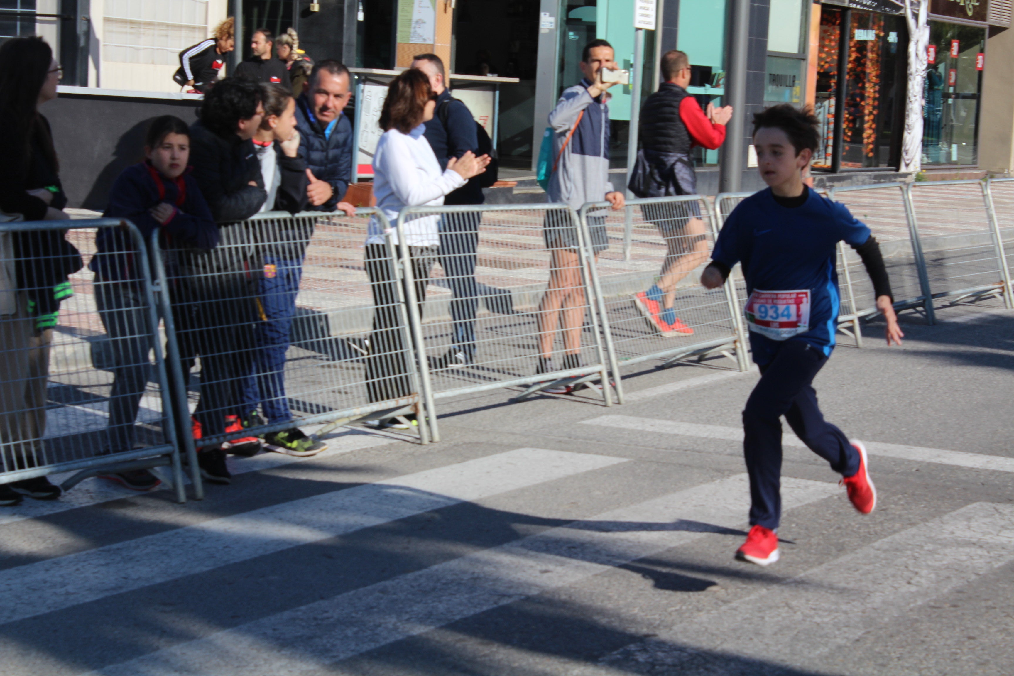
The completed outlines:
[[[52,132],[49,121],[40,115],[32,131],[28,164],[22,167],[15,160],[21,151],[14,146],[21,139],[0,135],[0,209],[8,214],[21,214],[25,221],[45,219],[47,210],[45,202],[25,191],[49,187],[53,192],[50,206],[54,209],[67,206],[57,169],[43,150],[44,136],[52,138]],[[66,240],[66,230],[49,230],[18,232],[13,237],[17,286],[35,302],[40,314],[60,308],[60,302],[53,297],[53,287],[66,282],[84,266],[77,248]]]

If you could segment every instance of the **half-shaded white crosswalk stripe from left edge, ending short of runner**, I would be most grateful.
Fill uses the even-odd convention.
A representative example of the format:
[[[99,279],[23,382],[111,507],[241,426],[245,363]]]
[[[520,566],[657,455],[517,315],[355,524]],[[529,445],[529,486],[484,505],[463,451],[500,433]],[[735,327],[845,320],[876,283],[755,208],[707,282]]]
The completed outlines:
[[[0,624],[625,458],[520,448],[0,572]]]

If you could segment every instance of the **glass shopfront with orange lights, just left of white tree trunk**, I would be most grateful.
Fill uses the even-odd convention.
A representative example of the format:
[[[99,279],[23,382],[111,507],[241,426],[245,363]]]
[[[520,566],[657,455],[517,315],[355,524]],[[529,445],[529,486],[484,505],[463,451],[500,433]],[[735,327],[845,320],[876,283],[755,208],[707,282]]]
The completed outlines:
[[[852,10],[842,166],[889,166],[904,106],[904,19]]]

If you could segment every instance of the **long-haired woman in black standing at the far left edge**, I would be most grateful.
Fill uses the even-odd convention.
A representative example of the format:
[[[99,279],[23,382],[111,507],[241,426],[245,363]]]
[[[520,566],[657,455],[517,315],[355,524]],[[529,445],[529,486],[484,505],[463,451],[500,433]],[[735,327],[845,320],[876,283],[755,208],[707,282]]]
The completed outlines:
[[[57,97],[61,68],[42,37],[0,45],[0,222],[70,218],[50,124],[39,106]],[[50,344],[67,278],[82,267],[66,230],[0,233],[0,467],[38,466],[46,457]],[[55,500],[45,476],[0,483],[0,506],[21,496]]]

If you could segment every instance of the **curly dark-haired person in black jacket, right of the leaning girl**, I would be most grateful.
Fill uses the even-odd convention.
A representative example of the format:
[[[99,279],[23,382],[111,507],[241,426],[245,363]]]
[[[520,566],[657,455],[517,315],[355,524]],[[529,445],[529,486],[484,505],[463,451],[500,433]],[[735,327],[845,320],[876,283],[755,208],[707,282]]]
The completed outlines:
[[[219,246],[180,266],[175,281],[184,310],[175,317],[185,364],[201,356],[201,399],[195,436],[242,431],[225,417],[242,403],[254,359],[258,320],[254,234],[245,219],[261,211],[268,194],[251,139],[264,121],[261,86],[243,78],[222,80],[209,91],[201,119],[191,127],[194,178],[218,223]],[[225,452],[217,444],[198,454],[201,473],[231,482]]]

